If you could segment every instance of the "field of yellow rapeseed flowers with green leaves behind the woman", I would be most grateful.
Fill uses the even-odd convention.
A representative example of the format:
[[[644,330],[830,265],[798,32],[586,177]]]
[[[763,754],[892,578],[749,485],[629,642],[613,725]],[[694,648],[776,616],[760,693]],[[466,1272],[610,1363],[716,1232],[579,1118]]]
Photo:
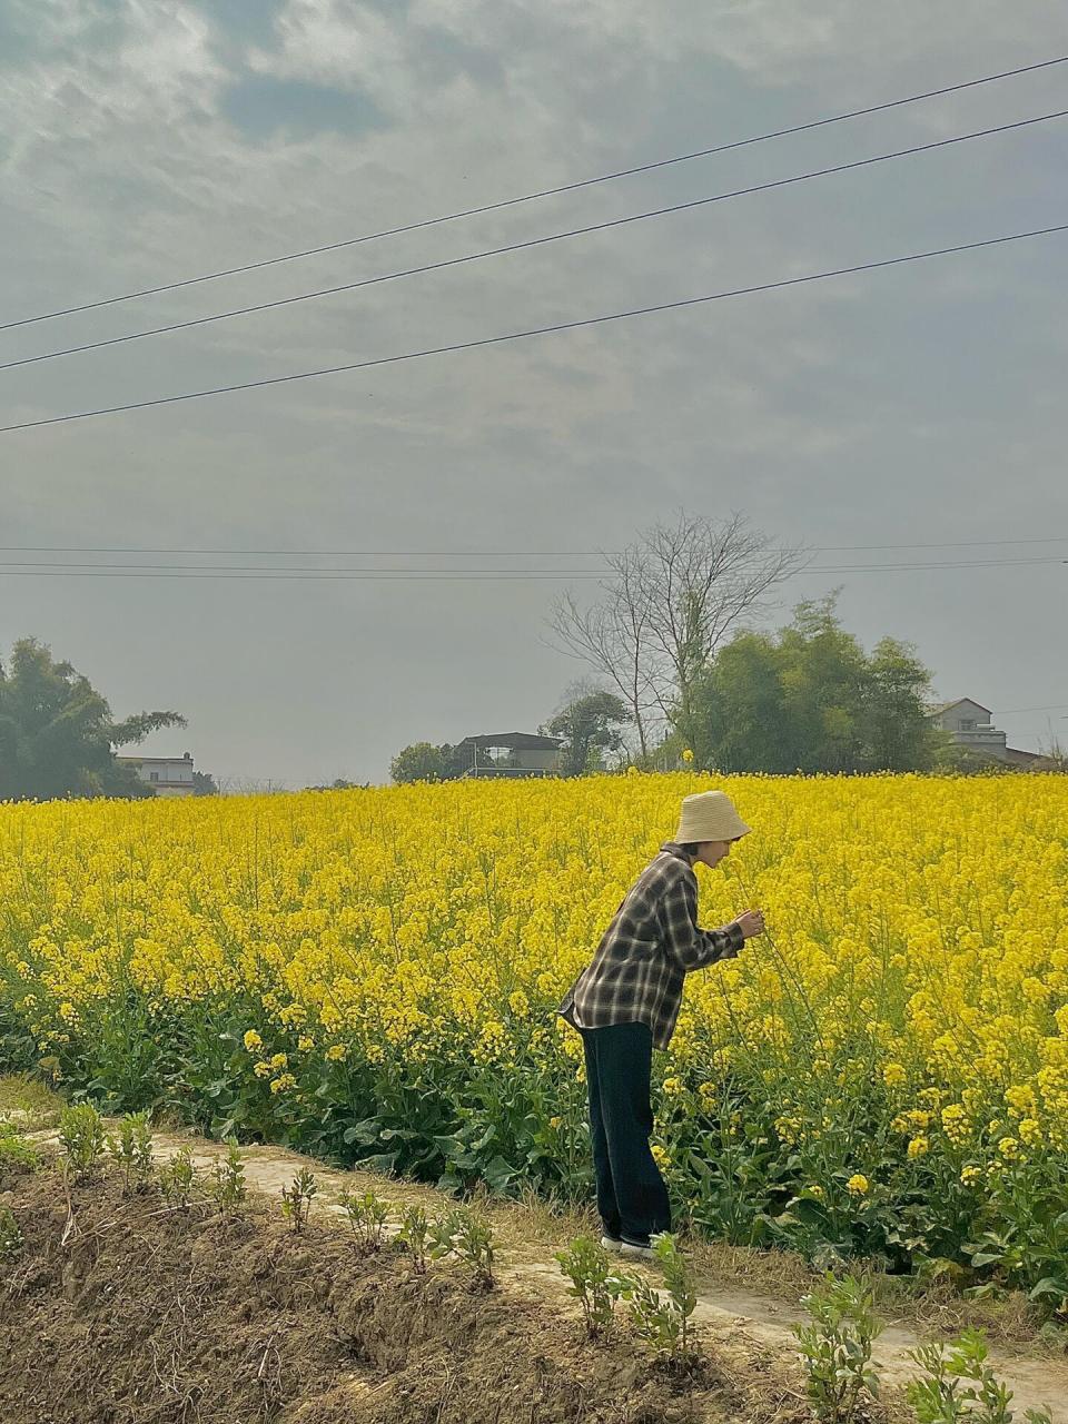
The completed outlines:
[[[0,1062],[110,1109],[588,1192],[554,1007],[708,778],[0,806]],[[1068,779],[731,778],[658,1158],[705,1229],[1068,1297]]]

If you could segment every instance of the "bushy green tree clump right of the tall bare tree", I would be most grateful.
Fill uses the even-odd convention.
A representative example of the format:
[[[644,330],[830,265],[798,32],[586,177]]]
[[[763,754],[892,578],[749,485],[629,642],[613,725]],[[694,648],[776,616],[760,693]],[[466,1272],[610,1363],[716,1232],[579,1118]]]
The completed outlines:
[[[883,638],[869,656],[842,627],[837,594],[802,602],[776,635],[739,634],[695,691],[698,765],[722,772],[930,770],[931,674]]]

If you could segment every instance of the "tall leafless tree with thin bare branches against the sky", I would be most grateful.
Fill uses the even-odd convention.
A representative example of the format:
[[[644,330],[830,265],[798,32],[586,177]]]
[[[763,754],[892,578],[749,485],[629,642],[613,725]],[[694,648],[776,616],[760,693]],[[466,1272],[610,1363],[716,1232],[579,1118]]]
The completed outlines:
[[[661,718],[692,739],[693,689],[729,632],[762,615],[776,584],[805,567],[740,514],[713,521],[679,511],[627,550],[607,554],[602,597],[581,609],[571,592],[554,607],[558,644],[619,692],[642,755]]]

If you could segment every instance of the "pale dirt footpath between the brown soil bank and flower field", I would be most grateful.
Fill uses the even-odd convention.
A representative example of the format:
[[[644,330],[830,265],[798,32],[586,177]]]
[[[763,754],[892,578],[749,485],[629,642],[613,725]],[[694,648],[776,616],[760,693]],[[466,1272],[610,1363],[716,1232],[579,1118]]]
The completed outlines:
[[[54,1131],[28,1134],[28,1136],[43,1143],[56,1142]],[[192,1134],[154,1135],[154,1152],[158,1159],[167,1161],[179,1146],[192,1149],[194,1163],[199,1169],[211,1168],[214,1162],[225,1156],[225,1148],[221,1143]],[[242,1159],[249,1188],[275,1202],[281,1200],[282,1188],[292,1183],[295,1173],[302,1166],[309,1166],[319,1182],[320,1195],[316,1198],[315,1215],[320,1220],[329,1216],[335,1216],[339,1222],[343,1219],[343,1209],[325,1198],[346,1189],[366,1190],[373,1186],[383,1200],[393,1203],[420,1202],[424,1206],[431,1206],[446,1200],[431,1188],[362,1172],[332,1171],[315,1159],[289,1152],[285,1148],[242,1148]],[[506,1215],[507,1208],[496,1213],[497,1218]],[[494,1225],[497,1226],[497,1220]],[[572,1302],[565,1294],[562,1277],[553,1260],[553,1250],[545,1250],[544,1246],[534,1250],[524,1249],[521,1240],[515,1239],[514,1229],[506,1229],[501,1235],[503,1262],[498,1274],[503,1284],[524,1293],[534,1293],[541,1300],[551,1302],[554,1309],[570,1313]],[[561,1240],[557,1245],[565,1243]],[[708,1282],[699,1283],[695,1314],[721,1349],[731,1350],[739,1360],[745,1358],[755,1368],[759,1368],[769,1358],[793,1354],[795,1341],[790,1326],[803,1319],[800,1307],[792,1307],[786,1302],[752,1292],[728,1290],[722,1284]],[[886,1384],[903,1386],[916,1374],[916,1366],[909,1360],[907,1351],[918,1343],[918,1337],[900,1324],[886,1327],[874,1347],[876,1367]],[[994,1347],[991,1347],[991,1363],[1012,1390],[1017,1424],[1024,1424],[1027,1408],[1038,1408],[1042,1404],[1051,1410],[1054,1424],[1068,1424],[1068,1363],[1027,1358],[998,1351]]]

